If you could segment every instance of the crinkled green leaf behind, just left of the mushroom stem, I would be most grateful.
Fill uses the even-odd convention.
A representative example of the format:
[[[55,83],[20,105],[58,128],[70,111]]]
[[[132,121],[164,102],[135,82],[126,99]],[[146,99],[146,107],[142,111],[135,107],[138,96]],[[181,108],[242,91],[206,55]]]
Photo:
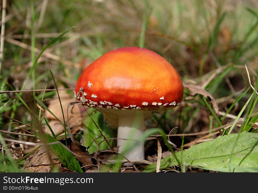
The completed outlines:
[[[89,113],[89,114],[91,115],[91,118],[96,122],[99,129],[101,130],[101,132],[107,139],[114,137],[114,133],[116,132],[116,130],[107,125],[107,122],[104,121],[103,115],[99,111],[96,111],[94,113]],[[99,137],[100,132],[96,128],[96,125],[91,120],[91,118],[87,117],[86,119],[84,119],[85,120],[84,125],[86,126],[86,130],[89,133],[84,132],[84,134],[83,134],[84,141],[82,143],[82,145],[85,147],[90,146],[88,149],[89,153],[96,152],[96,147],[97,147],[96,142],[99,144],[101,141],[104,140],[102,137]],[[92,137],[95,139],[96,142],[94,142]],[[98,138],[98,139],[96,139],[96,138]],[[112,141],[113,140],[109,140],[109,143],[112,144]],[[99,144],[99,146],[98,146],[99,151],[106,150],[106,149],[109,149],[107,142],[104,141],[101,144]]]

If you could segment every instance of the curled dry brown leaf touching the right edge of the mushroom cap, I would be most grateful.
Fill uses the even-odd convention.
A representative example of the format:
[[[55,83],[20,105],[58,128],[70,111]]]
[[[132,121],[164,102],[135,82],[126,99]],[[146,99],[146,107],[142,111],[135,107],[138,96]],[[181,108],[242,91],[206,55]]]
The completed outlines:
[[[216,115],[219,114],[219,107],[218,104],[216,103],[215,98],[209,93],[207,90],[204,90],[200,86],[193,85],[193,84],[185,84],[183,83],[184,88],[189,89],[193,95],[200,94],[203,95],[204,97],[210,97],[211,98],[211,104],[213,105],[213,110],[216,113]]]

